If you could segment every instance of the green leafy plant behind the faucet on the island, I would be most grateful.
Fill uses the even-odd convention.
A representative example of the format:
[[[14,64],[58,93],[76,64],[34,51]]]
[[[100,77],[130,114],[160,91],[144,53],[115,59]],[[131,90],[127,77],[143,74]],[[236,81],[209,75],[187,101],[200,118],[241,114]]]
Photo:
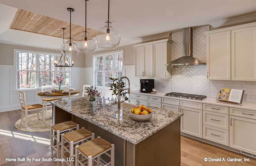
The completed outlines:
[[[109,78],[112,80],[112,84],[110,85],[110,90],[113,91],[112,95],[116,95],[117,99],[118,99],[118,85],[119,85],[119,78]],[[120,96],[122,98],[123,101],[128,100],[128,97],[126,96],[126,94],[128,94],[128,92],[125,92],[125,90],[123,90],[123,88],[125,88],[125,83],[124,81],[120,82]]]

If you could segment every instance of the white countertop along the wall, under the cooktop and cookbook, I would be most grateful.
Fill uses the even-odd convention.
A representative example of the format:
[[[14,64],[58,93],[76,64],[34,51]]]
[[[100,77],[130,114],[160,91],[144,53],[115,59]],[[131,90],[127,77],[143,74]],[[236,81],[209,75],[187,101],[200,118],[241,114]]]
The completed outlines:
[[[197,103],[213,104],[213,105],[218,105],[218,106],[233,107],[233,108],[240,108],[240,109],[256,111],[256,103],[243,102],[242,104],[235,104],[235,103],[228,103],[228,102],[224,102],[224,101],[218,101],[214,98],[206,98],[204,100],[192,100],[192,99],[184,99],[184,98],[178,98],[178,97],[165,96],[165,93],[162,93],[162,92],[144,93],[144,92],[140,92],[139,90],[131,91],[130,93],[147,95],[147,96],[157,96],[157,97],[164,97],[164,98],[170,98],[170,99],[185,100],[185,101],[191,101],[191,102],[197,102]]]

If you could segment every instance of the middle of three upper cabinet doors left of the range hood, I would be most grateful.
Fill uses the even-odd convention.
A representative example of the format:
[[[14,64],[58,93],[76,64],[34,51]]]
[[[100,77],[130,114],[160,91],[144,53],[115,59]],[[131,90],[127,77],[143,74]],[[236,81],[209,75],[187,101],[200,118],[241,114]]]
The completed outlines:
[[[145,77],[153,77],[153,44],[143,46],[143,69]]]

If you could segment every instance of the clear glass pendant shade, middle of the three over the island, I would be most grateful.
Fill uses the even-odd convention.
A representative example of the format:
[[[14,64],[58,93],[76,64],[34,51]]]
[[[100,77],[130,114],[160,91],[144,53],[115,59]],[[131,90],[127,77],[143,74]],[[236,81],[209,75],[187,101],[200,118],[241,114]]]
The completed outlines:
[[[89,36],[89,33],[86,32],[86,38],[87,40],[85,40],[85,34],[81,37],[81,38],[78,38],[77,41],[78,44],[79,44],[79,48],[80,48],[80,52],[82,53],[92,53],[95,51],[95,48],[96,48],[96,41],[94,38],[91,38]]]

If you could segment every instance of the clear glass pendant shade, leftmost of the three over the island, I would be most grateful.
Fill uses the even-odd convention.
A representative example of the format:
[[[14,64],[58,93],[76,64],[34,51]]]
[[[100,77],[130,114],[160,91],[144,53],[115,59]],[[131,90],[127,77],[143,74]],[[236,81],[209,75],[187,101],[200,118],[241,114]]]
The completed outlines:
[[[78,55],[80,52],[79,45],[72,40],[72,38],[69,38],[67,42],[64,42],[61,45],[61,52],[63,54],[72,54],[72,55]]]

